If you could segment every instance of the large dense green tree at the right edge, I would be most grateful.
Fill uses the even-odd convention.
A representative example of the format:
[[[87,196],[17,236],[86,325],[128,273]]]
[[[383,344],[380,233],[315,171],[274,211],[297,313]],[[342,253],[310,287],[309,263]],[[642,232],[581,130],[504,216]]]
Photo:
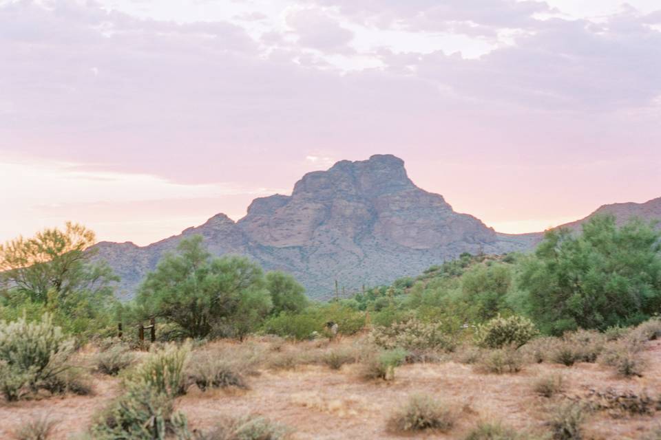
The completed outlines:
[[[583,233],[550,230],[523,264],[520,287],[547,333],[636,324],[661,311],[661,234],[597,216]]]

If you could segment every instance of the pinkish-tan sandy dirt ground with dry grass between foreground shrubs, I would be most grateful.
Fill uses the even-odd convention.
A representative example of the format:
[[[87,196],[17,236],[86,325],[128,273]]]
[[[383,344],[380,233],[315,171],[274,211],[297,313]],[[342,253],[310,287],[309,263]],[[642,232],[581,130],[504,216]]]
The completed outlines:
[[[326,366],[298,366],[290,371],[260,371],[249,377],[247,391],[193,390],[177,400],[192,428],[204,430],[222,416],[258,413],[295,430],[294,439],[403,439],[388,432],[392,412],[412,394],[427,394],[444,401],[459,414],[448,434],[417,434],[417,439],[462,439],[479,421],[502,421],[519,430],[543,432],[549,399],[532,391],[536,377],[561,373],[568,396],[582,396],[590,389],[609,387],[661,392],[661,341],[649,342],[649,364],[644,377],[620,379],[598,364],[527,365],[521,373],[475,373],[470,365],[412,364],[397,369],[391,382],[364,382],[357,365],[340,371]],[[84,432],[94,414],[119,392],[118,380],[94,375],[94,395],[50,397],[8,404],[0,401],[0,439],[11,439],[13,430],[32,417],[48,415],[57,425],[52,439],[70,439]],[[586,438],[640,439],[661,424],[661,412],[653,416],[613,417],[607,412],[590,415]]]

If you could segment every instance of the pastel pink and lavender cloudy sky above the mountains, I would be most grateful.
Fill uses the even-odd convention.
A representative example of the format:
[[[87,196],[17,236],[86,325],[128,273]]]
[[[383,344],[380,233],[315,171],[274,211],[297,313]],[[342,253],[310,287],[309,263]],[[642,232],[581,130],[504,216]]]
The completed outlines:
[[[661,5],[0,0],[0,241],[147,244],[375,153],[501,232],[661,196]]]

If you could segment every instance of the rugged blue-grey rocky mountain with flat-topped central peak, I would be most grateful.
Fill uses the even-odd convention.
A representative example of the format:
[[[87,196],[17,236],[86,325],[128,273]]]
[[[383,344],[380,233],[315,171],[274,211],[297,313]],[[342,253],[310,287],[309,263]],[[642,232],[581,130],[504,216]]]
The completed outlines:
[[[659,200],[655,208],[625,203],[627,208],[616,213],[658,213]],[[265,270],[293,274],[313,298],[331,296],[335,280],[348,290],[381,285],[462,252],[529,250],[543,236],[499,234],[471,215],[454,212],[443,196],[415,186],[401,159],[374,155],[308,173],[290,196],[255,199],[237,222],[217,214],[145,247],[102,242],[94,248],[122,278],[120,297],[131,298],[162,255],[193,234],[202,235],[214,255],[243,254]]]

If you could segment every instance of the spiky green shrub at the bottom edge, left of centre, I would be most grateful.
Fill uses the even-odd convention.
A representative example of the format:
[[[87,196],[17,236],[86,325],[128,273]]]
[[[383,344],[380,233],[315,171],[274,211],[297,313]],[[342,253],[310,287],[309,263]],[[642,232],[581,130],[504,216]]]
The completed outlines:
[[[165,440],[169,434],[187,438],[187,431],[186,418],[174,412],[170,396],[148,384],[129,384],[98,417],[90,435],[94,440]]]

